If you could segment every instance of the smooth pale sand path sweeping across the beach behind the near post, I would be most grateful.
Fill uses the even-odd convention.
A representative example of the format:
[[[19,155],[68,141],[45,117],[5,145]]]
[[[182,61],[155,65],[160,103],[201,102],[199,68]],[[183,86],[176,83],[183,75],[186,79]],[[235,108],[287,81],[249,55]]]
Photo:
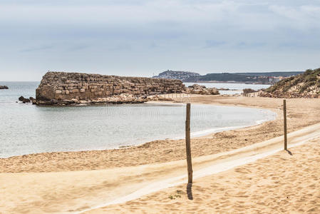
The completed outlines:
[[[289,133],[290,146],[320,137],[320,123]],[[280,151],[283,136],[193,159],[195,179]],[[1,173],[0,213],[81,213],[186,183],[185,161],[106,170]],[[18,193],[18,194],[17,194]]]

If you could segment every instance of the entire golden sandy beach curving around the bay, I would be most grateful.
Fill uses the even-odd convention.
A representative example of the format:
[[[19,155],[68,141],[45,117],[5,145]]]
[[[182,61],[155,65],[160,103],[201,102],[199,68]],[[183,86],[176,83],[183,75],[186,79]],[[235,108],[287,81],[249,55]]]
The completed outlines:
[[[181,101],[180,98],[177,101]],[[190,101],[268,108],[278,113],[275,121],[259,126],[192,139],[195,171],[282,146],[282,99],[199,96]],[[126,203],[90,210],[159,180],[185,174],[183,140],[153,141],[109,151],[1,158],[0,213],[76,213],[81,210],[88,210],[87,213],[269,213],[272,210],[316,213],[320,204],[319,191],[316,191],[320,173],[317,169],[319,106],[318,99],[287,100],[288,131],[292,133],[289,143],[302,140],[306,143],[291,148],[292,156],[280,151],[195,180],[193,200],[187,200],[186,185],[182,184]],[[299,132],[303,128],[304,131]],[[236,149],[240,151],[235,152]],[[177,181],[183,183],[183,179]]]

